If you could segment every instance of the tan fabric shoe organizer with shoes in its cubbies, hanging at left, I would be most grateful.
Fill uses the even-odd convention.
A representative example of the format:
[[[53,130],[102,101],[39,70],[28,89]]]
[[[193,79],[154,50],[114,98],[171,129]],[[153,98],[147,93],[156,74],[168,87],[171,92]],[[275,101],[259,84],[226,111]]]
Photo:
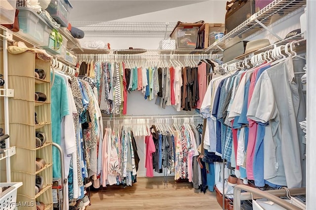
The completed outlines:
[[[35,69],[44,70],[45,78],[36,78]],[[11,157],[11,180],[23,182],[17,192],[17,202],[29,204],[19,210],[36,210],[36,201],[43,202],[45,210],[52,210],[50,62],[38,59],[33,52],[8,53],[8,84],[9,88],[14,88],[14,97],[9,99],[10,143],[16,147],[16,155]],[[44,93],[46,101],[35,101],[35,92]],[[38,124],[35,123],[35,112]],[[36,147],[37,131],[46,135],[46,142],[40,147]],[[46,163],[38,171],[36,158]],[[38,194],[35,194],[36,175],[43,177]]]

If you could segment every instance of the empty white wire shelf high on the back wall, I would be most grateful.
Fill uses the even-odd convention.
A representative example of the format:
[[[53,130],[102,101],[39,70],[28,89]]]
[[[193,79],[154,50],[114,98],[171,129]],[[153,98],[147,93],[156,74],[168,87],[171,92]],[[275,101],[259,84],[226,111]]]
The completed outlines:
[[[168,22],[91,22],[73,21],[72,26],[87,36],[161,36],[173,31],[177,23]]]

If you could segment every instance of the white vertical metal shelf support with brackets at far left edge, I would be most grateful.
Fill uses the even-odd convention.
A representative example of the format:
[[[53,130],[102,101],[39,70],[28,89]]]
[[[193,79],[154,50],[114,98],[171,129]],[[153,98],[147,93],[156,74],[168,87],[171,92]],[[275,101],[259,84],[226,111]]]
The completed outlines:
[[[7,62],[7,46],[8,40],[12,39],[12,33],[10,30],[5,28],[0,28],[0,40],[2,40],[0,48],[2,49],[3,56],[3,79],[4,79],[4,88],[1,89],[1,97],[3,97],[3,114],[4,114],[4,131],[5,134],[10,135],[9,132],[9,97],[13,97],[14,91],[8,89],[8,62]],[[5,149],[4,153],[1,154],[0,160],[5,159],[6,166],[6,181],[11,182],[11,163],[10,157],[15,154],[15,147],[10,147],[10,138],[5,140]]]

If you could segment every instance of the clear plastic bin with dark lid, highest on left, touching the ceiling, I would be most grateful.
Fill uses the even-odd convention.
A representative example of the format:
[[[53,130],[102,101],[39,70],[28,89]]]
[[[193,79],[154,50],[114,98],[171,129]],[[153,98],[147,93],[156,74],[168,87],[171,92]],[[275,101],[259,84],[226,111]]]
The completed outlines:
[[[51,0],[46,11],[63,27],[68,27],[68,19],[72,5],[68,0]]]

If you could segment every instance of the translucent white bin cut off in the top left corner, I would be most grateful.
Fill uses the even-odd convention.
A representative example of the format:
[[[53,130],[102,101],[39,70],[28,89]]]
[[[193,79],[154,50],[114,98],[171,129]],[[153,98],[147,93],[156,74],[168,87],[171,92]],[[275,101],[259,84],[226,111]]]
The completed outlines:
[[[16,0],[0,0],[0,24],[13,24]]]

